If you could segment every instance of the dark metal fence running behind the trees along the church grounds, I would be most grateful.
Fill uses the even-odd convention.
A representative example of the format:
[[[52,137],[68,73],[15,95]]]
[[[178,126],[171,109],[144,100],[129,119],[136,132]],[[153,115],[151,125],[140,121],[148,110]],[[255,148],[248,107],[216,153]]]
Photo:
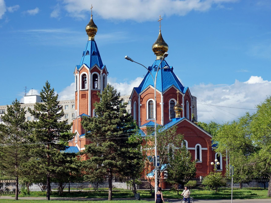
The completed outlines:
[[[202,185],[202,179],[196,180],[196,186],[190,189],[205,189]],[[268,179],[255,179],[247,183],[234,183],[235,189],[267,189]],[[160,179],[160,186],[163,190],[172,189],[172,185],[166,182],[165,179]],[[184,185],[179,185],[179,189],[183,189]],[[19,191],[27,191],[27,187],[30,192],[46,192],[46,183],[32,183],[27,185],[19,185]],[[141,179],[136,184],[137,190],[154,190],[154,179],[146,180]],[[231,180],[227,181],[227,186],[221,187],[222,189],[231,188]],[[113,191],[129,192],[132,191],[132,186],[128,183],[128,180],[114,180],[112,182]],[[51,183],[51,192],[106,192],[108,191],[108,182],[67,182],[67,183]],[[14,194],[15,193],[15,180],[0,180],[0,194]]]

